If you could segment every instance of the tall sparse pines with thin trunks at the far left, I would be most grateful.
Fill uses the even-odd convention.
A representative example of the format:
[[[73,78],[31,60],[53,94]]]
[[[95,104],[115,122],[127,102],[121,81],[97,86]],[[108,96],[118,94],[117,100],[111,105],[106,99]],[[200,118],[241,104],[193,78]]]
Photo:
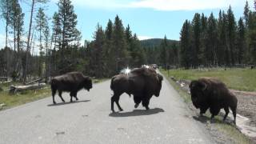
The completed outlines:
[[[75,57],[70,50],[80,46],[81,34],[76,28],[78,21],[74,6],[70,0],[59,0],[58,11],[49,18],[45,13],[49,0],[22,2],[30,6],[27,30],[20,2],[0,1],[6,31],[5,47],[0,50],[0,75],[26,82],[28,76],[49,78],[52,74],[60,74],[70,58]]]

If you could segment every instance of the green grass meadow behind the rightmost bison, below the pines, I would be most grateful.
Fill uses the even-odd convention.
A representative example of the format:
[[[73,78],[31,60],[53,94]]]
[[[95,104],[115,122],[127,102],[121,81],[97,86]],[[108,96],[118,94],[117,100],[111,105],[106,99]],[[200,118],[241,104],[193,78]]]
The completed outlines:
[[[168,74],[168,71],[166,71]],[[178,79],[194,80],[202,77],[218,78],[230,89],[256,91],[256,69],[232,68],[226,70],[169,70],[169,75]]]

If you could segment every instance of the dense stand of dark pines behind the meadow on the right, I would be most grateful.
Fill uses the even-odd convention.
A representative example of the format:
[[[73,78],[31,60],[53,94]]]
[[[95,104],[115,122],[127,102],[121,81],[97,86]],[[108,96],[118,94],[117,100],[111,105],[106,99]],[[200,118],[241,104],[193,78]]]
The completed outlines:
[[[256,12],[246,2],[238,22],[231,6],[226,12],[220,10],[218,18],[213,13],[209,18],[194,14],[182,26],[179,55],[180,66],[185,68],[255,64]]]

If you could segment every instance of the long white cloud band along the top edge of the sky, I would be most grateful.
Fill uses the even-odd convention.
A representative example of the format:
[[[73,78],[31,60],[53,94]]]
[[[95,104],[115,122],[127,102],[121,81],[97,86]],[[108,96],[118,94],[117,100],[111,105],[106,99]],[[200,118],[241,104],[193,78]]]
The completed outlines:
[[[58,2],[58,0],[52,0]],[[149,8],[153,10],[207,10],[244,6],[246,0],[71,0],[75,6],[92,8]],[[253,0],[248,0],[252,3]]]

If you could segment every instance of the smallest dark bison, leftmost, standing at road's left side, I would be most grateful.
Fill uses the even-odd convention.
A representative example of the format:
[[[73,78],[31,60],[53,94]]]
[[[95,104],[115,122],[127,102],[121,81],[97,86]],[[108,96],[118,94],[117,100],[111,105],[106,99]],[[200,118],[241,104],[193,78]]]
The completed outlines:
[[[89,77],[84,76],[80,72],[70,72],[67,74],[63,74],[57,77],[54,77],[51,80],[51,92],[53,96],[53,102],[56,103],[54,100],[54,95],[56,94],[56,91],[58,90],[58,96],[62,98],[62,91],[70,92],[70,102],[72,102],[72,97],[76,98],[77,93],[82,88],[90,91],[92,88],[92,81]],[[62,98],[62,102],[65,102]]]

